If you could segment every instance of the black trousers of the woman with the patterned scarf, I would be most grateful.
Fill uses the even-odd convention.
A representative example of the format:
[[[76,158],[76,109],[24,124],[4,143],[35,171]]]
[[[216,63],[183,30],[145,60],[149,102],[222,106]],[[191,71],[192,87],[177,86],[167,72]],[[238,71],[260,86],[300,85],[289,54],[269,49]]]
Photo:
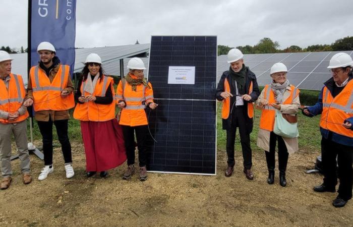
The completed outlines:
[[[137,139],[137,148],[139,149],[139,166],[145,166],[147,162],[147,146],[146,146],[146,136],[148,131],[147,125],[142,126],[125,126],[122,125],[124,140],[125,140],[125,150],[126,156],[128,158],[128,165],[135,164],[135,136]]]

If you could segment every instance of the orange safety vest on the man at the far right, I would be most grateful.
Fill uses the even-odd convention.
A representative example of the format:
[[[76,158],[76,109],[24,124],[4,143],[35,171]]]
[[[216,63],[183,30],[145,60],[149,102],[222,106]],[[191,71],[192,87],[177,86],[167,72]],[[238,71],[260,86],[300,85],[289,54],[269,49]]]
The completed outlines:
[[[342,126],[344,120],[351,117],[353,117],[353,80],[350,80],[334,98],[325,86],[322,96],[320,127],[353,138],[353,131]]]

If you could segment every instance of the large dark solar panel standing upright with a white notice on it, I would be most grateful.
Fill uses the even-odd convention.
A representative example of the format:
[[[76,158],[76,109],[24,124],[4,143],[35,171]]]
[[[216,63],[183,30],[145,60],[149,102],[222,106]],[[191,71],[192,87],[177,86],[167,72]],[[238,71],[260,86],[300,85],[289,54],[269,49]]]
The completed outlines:
[[[169,67],[195,67],[195,83],[168,83]],[[216,76],[216,36],[151,37],[148,171],[216,174]]]

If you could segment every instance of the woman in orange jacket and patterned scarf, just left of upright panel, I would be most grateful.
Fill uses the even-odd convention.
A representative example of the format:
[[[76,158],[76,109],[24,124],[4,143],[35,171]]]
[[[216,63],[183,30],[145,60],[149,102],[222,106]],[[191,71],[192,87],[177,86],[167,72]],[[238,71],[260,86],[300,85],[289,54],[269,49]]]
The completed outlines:
[[[143,70],[145,64],[139,58],[132,58],[128,63],[129,73],[116,88],[116,104],[123,108],[119,124],[123,127],[128,168],[123,176],[128,180],[135,173],[135,133],[139,150],[140,181],[147,179],[146,135],[148,121],[145,108],[155,109],[151,83],[147,83]]]

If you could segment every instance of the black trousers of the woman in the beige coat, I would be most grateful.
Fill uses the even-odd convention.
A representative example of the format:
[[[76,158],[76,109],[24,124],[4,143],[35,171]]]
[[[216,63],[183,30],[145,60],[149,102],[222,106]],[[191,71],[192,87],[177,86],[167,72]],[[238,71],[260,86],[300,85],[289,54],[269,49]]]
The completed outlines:
[[[270,134],[270,150],[265,151],[267,168],[269,171],[274,171],[275,169],[275,149],[276,142],[278,141],[278,169],[279,172],[285,173],[288,163],[288,152],[285,146],[284,140],[281,136],[278,136],[271,132]]]

